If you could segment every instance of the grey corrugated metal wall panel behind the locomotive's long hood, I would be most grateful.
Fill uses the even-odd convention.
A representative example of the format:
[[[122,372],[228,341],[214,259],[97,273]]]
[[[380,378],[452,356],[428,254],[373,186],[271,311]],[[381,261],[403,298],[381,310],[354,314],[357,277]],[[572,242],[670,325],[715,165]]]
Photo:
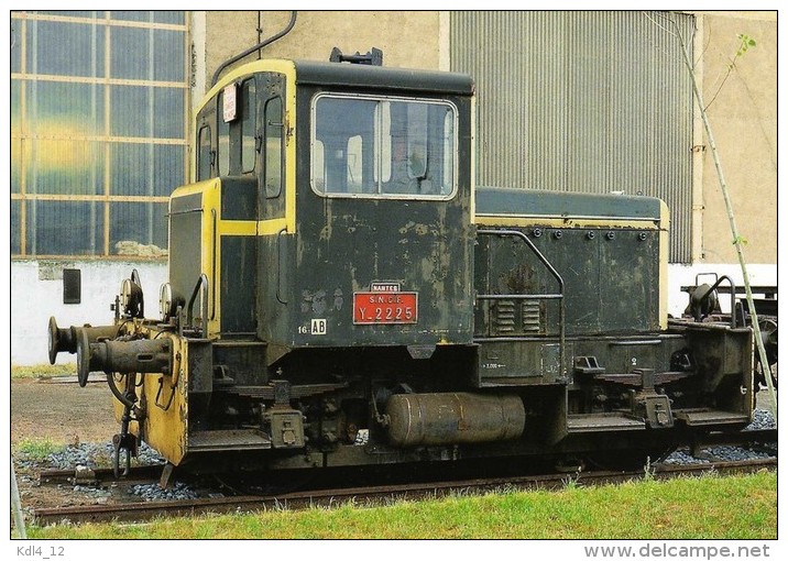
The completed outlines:
[[[670,207],[691,261],[692,89],[666,12],[452,12],[451,69],[478,91],[480,185],[623,190]]]

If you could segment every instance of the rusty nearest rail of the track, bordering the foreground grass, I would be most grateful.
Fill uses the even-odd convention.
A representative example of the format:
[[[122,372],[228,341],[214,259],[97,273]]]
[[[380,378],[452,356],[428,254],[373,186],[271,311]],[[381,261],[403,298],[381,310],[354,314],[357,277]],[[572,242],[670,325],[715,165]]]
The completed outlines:
[[[685,475],[699,475],[713,471],[719,474],[753,473],[759,470],[776,470],[777,459],[747,460],[741,462],[712,462],[705,464],[668,465],[655,464],[649,470],[652,479],[670,479]],[[64,506],[39,508],[32,512],[33,521],[40,526],[99,521],[142,521],[155,517],[194,516],[200,514],[248,513],[269,509],[299,509],[313,506],[336,506],[346,502],[383,502],[386,499],[435,498],[457,492],[483,493],[496,488],[561,488],[569,481],[581,485],[602,485],[637,481],[646,476],[638,471],[594,471],[578,472],[571,475],[549,474],[536,476],[513,476],[483,480],[463,480],[451,482],[430,482],[418,484],[381,485],[352,488],[331,488],[302,491],[265,496],[221,496],[191,501],[164,501],[144,503],[103,504],[88,506]],[[56,480],[55,474],[50,477]]]

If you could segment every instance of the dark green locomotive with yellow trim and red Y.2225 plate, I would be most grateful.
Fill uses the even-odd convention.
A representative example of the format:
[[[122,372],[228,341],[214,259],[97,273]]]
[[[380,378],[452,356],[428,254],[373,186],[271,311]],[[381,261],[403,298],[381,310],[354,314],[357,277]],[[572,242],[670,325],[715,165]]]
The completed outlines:
[[[668,317],[663,201],[477,186],[471,77],[375,58],[229,72],[158,314],[133,271],[111,324],[51,318],[51,362],[107,376],[116,470],[143,441],[196,471],[643,465],[752,420],[751,329]]]

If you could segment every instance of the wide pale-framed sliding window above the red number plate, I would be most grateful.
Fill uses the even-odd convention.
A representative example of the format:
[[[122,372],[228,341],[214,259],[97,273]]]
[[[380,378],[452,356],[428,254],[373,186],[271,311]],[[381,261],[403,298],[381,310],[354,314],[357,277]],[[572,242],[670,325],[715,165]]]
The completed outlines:
[[[446,101],[320,95],[311,185],[326,196],[453,196],[457,109]]]

